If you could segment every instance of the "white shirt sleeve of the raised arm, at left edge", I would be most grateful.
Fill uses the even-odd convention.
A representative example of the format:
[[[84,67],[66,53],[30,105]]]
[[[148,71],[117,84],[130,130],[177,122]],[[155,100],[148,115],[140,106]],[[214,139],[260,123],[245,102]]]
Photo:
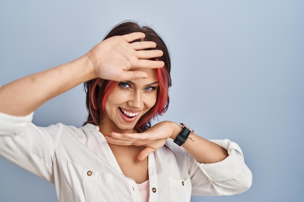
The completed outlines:
[[[33,114],[0,112],[0,157],[53,183],[54,150],[63,124],[38,127],[32,123]]]

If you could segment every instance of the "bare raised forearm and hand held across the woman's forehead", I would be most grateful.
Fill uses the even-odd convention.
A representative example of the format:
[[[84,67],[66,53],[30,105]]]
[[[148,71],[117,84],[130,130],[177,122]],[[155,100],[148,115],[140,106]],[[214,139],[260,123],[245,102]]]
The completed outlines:
[[[116,81],[146,78],[147,73],[136,68],[161,68],[164,62],[149,60],[163,55],[161,50],[144,50],[156,47],[154,42],[130,43],[144,37],[141,32],[110,37],[74,61],[2,86],[0,111],[28,115],[51,98],[93,78]]]

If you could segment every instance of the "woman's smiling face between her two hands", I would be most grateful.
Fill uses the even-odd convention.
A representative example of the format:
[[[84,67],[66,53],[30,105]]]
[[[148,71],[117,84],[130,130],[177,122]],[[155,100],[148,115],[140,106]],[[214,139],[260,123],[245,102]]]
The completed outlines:
[[[135,132],[137,121],[156,103],[158,77],[156,69],[140,69],[148,78],[118,82],[105,101],[101,127],[116,132]],[[118,131],[118,130],[121,131]]]

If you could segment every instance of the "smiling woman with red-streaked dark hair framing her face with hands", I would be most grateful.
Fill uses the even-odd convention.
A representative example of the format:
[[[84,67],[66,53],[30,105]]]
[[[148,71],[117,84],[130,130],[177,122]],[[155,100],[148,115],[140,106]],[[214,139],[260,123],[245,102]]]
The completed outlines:
[[[0,88],[0,155],[54,184],[59,202],[189,202],[249,189],[236,143],[169,121],[150,127],[168,108],[169,73],[158,34],[120,23],[83,57]],[[83,127],[31,123],[39,106],[83,82]]]

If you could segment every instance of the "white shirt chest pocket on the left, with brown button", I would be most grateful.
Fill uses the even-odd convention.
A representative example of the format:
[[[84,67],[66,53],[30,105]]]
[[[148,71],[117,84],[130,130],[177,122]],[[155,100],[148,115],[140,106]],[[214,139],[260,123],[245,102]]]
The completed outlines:
[[[82,168],[70,161],[68,171],[75,202],[118,202],[112,174]]]

